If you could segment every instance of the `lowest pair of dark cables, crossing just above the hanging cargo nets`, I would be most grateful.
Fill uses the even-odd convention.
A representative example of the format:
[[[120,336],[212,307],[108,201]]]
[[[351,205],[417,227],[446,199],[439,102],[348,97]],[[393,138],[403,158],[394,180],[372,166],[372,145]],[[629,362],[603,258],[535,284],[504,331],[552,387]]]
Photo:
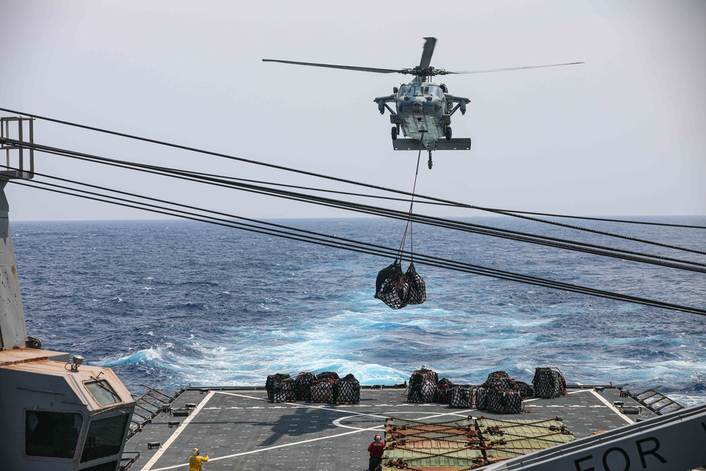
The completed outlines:
[[[208,215],[201,215],[198,213],[190,213],[189,211],[186,211],[186,210],[164,208],[164,207],[160,207],[158,205],[152,205],[151,203],[142,203],[139,201],[128,200],[126,198],[118,198],[118,197],[109,196],[106,194],[95,193],[95,192],[90,192],[90,191],[85,191],[85,190],[80,190],[80,189],[74,189],[74,188],[59,186],[59,185],[55,185],[55,184],[48,184],[47,182],[32,181],[30,183],[30,181],[18,181],[18,180],[14,180],[14,179],[10,180],[9,182],[13,183],[13,184],[18,184],[20,186],[29,186],[30,188],[52,191],[54,193],[66,194],[69,196],[76,196],[79,198],[86,198],[86,199],[90,199],[90,200],[94,200],[94,201],[102,201],[104,203],[111,203],[111,204],[115,204],[115,205],[122,205],[122,206],[126,206],[128,208],[148,210],[153,213],[177,216],[177,217],[182,217],[184,219],[196,220],[196,221],[201,221],[201,222],[208,222],[210,224],[215,224],[215,225],[221,225],[221,226],[232,227],[232,228],[237,228],[237,229],[244,229],[244,230],[251,231],[251,232],[258,232],[261,234],[268,234],[268,235],[273,235],[276,237],[284,237],[285,239],[293,239],[293,240],[297,240],[300,242],[308,242],[308,243],[312,243],[312,244],[329,246],[329,247],[333,247],[333,248],[337,248],[337,249],[356,251],[356,252],[363,253],[363,254],[383,256],[383,257],[387,257],[387,258],[395,258],[396,254],[397,254],[395,249],[392,249],[389,247],[378,246],[375,244],[367,244],[367,243],[363,243],[363,242],[357,242],[352,239],[343,239],[340,237],[328,236],[325,234],[318,234],[316,232],[305,231],[303,229],[295,229],[292,227],[277,225],[277,224],[269,223],[269,222],[257,221],[258,224],[261,224],[263,226],[253,227],[253,225],[243,225],[241,223],[237,223],[232,220],[223,219],[222,217],[212,217],[212,216],[208,216]],[[39,185],[37,185],[37,184],[39,184]],[[54,188],[46,188],[41,185],[52,186]],[[113,191],[115,193],[131,195],[133,197],[143,198],[143,199],[147,199],[150,201],[160,201],[160,200],[157,200],[157,198],[148,198],[145,196],[132,195],[131,193],[126,193],[123,191],[117,191],[117,190],[111,190],[111,189],[105,189],[105,190],[106,191]],[[78,192],[78,193],[76,193],[76,192]],[[169,203],[168,201],[160,201],[160,202],[171,204],[171,205],[177,205],[179,207],[189,208],[189,206],[180,205],[177,203]],[[205,213],[215,213],[210,210],[204,210],[204,209],[199,209],[199,208],[196,208],[196,209],[201,210],[202,212],[205,212]],[[225,213],[215,213],[215,214],[225,215]],[[226,215],[226,216],[227,217],[236,217],[238,219],[247,220],[247,218],[241,218],[241,217],[237,217],[234,215]],[[252,221],[255,221],[255,220],[252,220]],[[264,226],[277,227],[277,229],[270,229],[270,228],[264,227]],[[280,228],[286,229],[286,230],[282,230]],[[287,232],[287,231],[289,231],[289,232]],[[311,234],[317,234],[317,237],[312,237]],[[409,253],[405,253],[405,254],[411,256],[411,254],[409,254]],[[690,314],[706,315],[706,309],[700,309],[700,308],[696,308],[696,307],[692,307],[692,306],[682,306],[680,304],[673,304],[673,303],[667,303],[667,302],[660,302],[660,301],[655,301],[653,299],[635,297],[635,296],[628,295],[628,294],[609,292],[606,290],[597,290],[595,288],[584,287],[584,286],[580,286],[580,285],[572,285],[572,284],[565,283],[565,282],[558,282],[558,281],[554,281],[554,280],[547,280],[544,278],[532,277],[530,275],[522,275],[519,273],[513,273],[513,272],[506,271],[506,270],[496,270],[493,268],[476,266],[476,265],[472,265],[469,263],[462,263],[460,261],[453,261],[453,260],[449,260],[449,259],[445,259],[445,258],[438,258],[438,257],[433,257],[433,256],[426,256],[423,254],[417,254],[417,262],[421,263],[423,265],[427,265],[427,266],[435,266],[438,268],[444,268],[444,269],[448,269],[448,270],[456,270],[456,271],[471,273],[471,274],[476,274],[476,275],[484,275],[484,276],[488,276],[491,278],[499,278],[502,280],[522,282],[525,284],[554,288],[557,290],[575,292],[575,293],[579,293],[579,294],[587,294],[587,295],[591,295],[594,297],[615,299],[615,300],[620,300],[620,301],[624,301],[624,302],[630,302],[633,304],[642,304],[642,305],[646,305],[646,306],[659,307],[662,309],[671,309],[674,311],[682,311],[682,312],[687,312]]]

